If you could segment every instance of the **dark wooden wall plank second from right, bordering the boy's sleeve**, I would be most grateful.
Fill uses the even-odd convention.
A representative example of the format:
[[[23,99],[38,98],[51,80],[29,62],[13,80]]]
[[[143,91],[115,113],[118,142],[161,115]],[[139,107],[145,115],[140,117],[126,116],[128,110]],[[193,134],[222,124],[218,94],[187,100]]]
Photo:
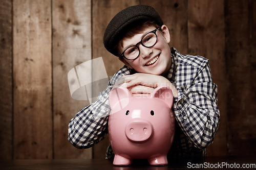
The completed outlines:
[[[209,156],[226,155],[226,58],[224,1],[188,1],[188,53],[209,59],[212,78],[218,85],[221,123]]]

